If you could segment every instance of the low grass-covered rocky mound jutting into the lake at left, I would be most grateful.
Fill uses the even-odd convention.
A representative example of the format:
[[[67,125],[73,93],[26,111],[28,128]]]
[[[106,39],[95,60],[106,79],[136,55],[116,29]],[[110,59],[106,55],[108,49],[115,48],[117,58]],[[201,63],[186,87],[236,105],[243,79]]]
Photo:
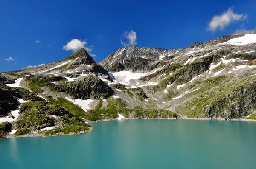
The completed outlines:
[[[23,103],[19,113],[20,116],[13,124],[17,130],[15,135],[29,134],[52,126],[55,128],[47,131],[46,135],[77,133],[87,131],[90,127],[81,118],[69,113],[66,109],[46,101]],[[39,133],[46,133],[46,131]]]

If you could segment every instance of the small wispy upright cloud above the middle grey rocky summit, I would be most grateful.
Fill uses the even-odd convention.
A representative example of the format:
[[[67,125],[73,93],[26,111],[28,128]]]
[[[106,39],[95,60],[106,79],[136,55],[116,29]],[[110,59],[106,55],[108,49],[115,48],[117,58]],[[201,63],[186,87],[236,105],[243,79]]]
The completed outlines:
[[[122,34],[120,43],[123,46],[133,46],[137,44],[137,37],[136,32],[134,30],[125,31],[124,34]]]

